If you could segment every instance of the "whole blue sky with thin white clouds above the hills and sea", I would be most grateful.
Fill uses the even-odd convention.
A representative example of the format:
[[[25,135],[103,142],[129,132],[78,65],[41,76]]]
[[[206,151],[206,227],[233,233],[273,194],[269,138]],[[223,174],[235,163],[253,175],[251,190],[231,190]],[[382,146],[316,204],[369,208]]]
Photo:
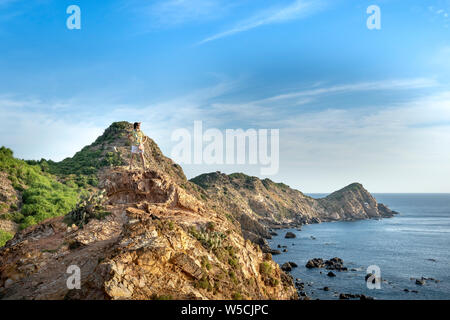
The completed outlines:
[[[271,179],[305,192],[450,192],[449,15],[450,0],[0,0],[0,145],[61,160],[139,119],[170,155],[171,132],[203,120],[279,128]]]

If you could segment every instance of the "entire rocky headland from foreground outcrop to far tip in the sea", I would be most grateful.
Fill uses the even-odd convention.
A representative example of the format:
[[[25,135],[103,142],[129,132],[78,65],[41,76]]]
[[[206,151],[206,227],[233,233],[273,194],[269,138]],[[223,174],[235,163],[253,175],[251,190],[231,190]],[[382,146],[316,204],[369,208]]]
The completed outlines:
[[[130,123],[114,123],[59,163],[20,162],[41,168],[39,179],[66,197],[104,190],[100,200],[91,196],[42,221],[45,215],[28,210],[38,221],[31,226],[23,196],[33,186],[2,169],[0,227],[14,237],[0,248],[0,298],[297,299],[292,278],[272,260],[276,250],[265,240],[275,229],[395,214],[357,183],[313,199],[241,173],[189,181],[150,138],[150,169],[129,170],[130,130]],[[80,268],[79,290],[68,289],[70,266]]]

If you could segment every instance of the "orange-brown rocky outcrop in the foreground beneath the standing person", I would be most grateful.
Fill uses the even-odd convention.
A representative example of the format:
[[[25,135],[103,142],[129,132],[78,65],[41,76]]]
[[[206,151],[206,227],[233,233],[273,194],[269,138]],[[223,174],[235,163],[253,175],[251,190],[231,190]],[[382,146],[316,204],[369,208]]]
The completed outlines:
[[[156,171],[104,170],[111,212],[54,218],[0,249],[3,299],[292,299],[292,280],[224,215]],[[81,269],[69,290],[67,268]]]

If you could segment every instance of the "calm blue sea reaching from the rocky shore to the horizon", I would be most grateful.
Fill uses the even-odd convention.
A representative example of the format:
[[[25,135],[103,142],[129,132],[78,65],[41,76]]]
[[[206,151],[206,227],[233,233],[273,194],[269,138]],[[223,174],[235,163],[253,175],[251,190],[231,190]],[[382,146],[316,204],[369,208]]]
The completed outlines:
[[[381,220],[305,225],[301,231],[278,230],[269,244],[273,249],[286,246],[288,252],[273,259],[280,265],[297,263],[290,273],[305,283],[304,291],[313,299],[338,299],[340,293],[376,299],[450,299],[450,194],[374,196],[400,214]],[[297,237],[285,239],[287,231]],[[328,270],[305,267],[309,259],[333,257],[342,258],[349,271],[333,271],[336,277],[328,277]],[[377,266],[381,272],[380,289],[367,287],[369,266]],[[422,277],[438,282],[417,285],[415,279]]]

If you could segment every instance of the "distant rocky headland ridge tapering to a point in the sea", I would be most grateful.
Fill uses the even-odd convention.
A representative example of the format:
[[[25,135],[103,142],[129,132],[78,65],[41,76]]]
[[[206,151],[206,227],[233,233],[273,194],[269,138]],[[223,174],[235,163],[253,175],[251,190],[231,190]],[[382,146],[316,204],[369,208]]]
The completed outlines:
[[[385,205],[377,203],[358,183],[323,199],[313,199],[285,184],[242,173],[226,175],[214,172],[200,175],[191,181],[206,190],[210,198],[217,199],[228,212],[238,217],[244,236],[253,241],[258,237],[268,237],[268,228],[392,217],[396,214]]]

